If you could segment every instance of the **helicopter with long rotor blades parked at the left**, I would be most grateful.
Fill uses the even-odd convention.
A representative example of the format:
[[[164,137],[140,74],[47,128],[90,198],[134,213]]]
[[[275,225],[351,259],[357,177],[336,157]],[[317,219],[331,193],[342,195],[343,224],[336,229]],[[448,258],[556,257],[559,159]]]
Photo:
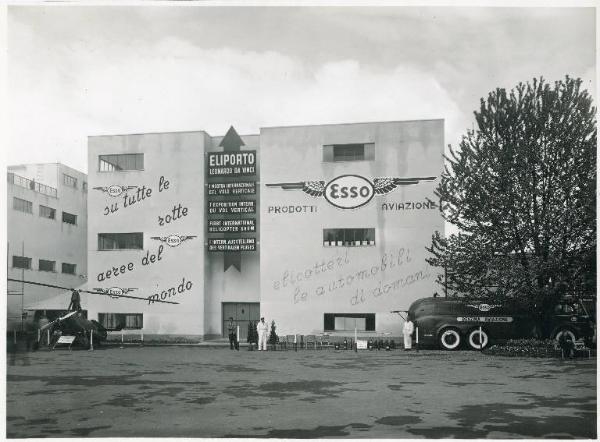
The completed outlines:
[[[93,319],[87,319],[84,312],[81,309],[81,305],[79,304],[79,293],[91,293],[95,295],[108,296],[112,299],[118,298],[129,298],[129,299],[137,299],[141,301],[148,301],[147,298],[142,298],[139,296],[131,296],[125,295],[124,292],[115,291],[113,289],[96,289],[96,290],[83,290],[83,289],[75,289],[69,287],[62,287],[58,285],[52,284],[44,284],[40,282],[34,281],[25,281],[21,279],[12,279],[7,278],[8,281],[12,282],[20,282],[24,284],[32,284],[43,287],[50,287],[61,290],[70,290],[72,292],[71,304],[67,310],[65,310],[64,314],[61,314],[58,318],[54,319],[47,324],[44,324],[39,327],[40,333],[38,336],[37,346],[41,346],[45,341],[49,348],[54,348],[59,341],[61,341],[61,337],[64,337],[66,341],[69,343],[69,348],[71,345],[75,345],[81,348],[89,348],[93,349],[94,345],[100,345],[103,341],[106,341],[109,331],[120,331],[122,330],[122,326],[117,328],[106,328],[102,326],[98,321]],[[76,299],[76,303],[73,301]],[[179,304],[175,301],[164,301],[164,300],[154,300],[154,302],[162,302],[165,304]],[[71,307],[73,308],[71,309]]]

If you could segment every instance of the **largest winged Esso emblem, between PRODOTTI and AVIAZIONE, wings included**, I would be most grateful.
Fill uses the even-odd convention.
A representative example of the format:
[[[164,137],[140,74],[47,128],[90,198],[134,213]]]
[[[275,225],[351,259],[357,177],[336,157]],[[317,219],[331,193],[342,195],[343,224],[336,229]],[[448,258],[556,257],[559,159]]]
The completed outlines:
[[[375,178],[373,182],[360,175],[340,175],[327,184],[325,181],[300,181],[296,183],[274,183],[267,187],[283,190],[302,190],[312,197],[325,197],[327,202],[340,209],[356,209],[367,204],[375,195],[386,195],[399,186],[411,186],[421,181],[433,181],[436,177]]]

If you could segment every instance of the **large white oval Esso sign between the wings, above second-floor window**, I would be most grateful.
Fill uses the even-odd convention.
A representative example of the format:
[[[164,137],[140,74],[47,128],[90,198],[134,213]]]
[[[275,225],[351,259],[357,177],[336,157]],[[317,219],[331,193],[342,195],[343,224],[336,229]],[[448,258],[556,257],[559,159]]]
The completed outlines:
[[[373,183],[360,175],[341,175],[325,186],[325,199],[340,209],[356,209],[375,195]]]

